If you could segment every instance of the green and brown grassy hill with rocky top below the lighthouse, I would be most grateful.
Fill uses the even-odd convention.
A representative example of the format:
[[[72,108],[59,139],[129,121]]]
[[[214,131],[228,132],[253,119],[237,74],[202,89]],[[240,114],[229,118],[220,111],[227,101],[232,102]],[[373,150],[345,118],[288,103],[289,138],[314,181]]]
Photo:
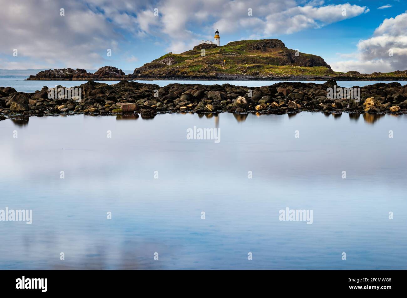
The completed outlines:
[[[287,75],[330,77],[335,72],[321,57],[296,53],[279,39],[242,40],[225,46],[199,44],[181,54],[168,53],[133,72],[133,76],[140,79],[213,79],[234,75],[272,79]]]

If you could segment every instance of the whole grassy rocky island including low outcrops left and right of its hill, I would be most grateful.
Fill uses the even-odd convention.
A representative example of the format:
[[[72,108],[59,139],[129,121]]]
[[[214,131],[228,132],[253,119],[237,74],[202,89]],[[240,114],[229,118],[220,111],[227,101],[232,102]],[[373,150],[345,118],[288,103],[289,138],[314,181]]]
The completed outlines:
[[[287,48],[279,39],[242,40],[225,46],[202,43],[184,53],[168,53],[126,75],[113,66],[95,73],[51,69],[27,80],[266,80],[266,81],[404,81],[407,70],[362,74],[335,72],[322,57]]]

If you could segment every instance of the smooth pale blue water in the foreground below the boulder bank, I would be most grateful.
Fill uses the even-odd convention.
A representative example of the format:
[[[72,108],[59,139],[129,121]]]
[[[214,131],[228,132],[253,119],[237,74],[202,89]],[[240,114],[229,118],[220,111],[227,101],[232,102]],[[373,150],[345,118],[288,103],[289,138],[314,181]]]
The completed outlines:
[[[187,140],[194,125],[221,141]],[[31,225],[0,221],[0,269],[406,269],[406,125],[309,112],[0,121],[0,209],[33,210]],[[279,221],[286,207],[313,223]]]

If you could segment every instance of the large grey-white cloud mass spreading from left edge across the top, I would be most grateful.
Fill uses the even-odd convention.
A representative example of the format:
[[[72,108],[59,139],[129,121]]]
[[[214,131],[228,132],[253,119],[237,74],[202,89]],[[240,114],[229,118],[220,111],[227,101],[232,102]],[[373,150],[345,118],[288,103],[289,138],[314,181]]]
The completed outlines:
[[[216,29],[221,34],[239,32],[242,38],[267,38],[320,28],[368,11],[349,3],[325,5],[322,0],[0,0],[0,4],[0,68],[97,68],[112,61],[107,48],[117,61],[122,59],[118,53],[123,44],[133,39],[158,41],[179,53],[202,39],[213,39]],[[60,8],[65,16],[59,15]],[[12,56],[14,48],[18,59]]]

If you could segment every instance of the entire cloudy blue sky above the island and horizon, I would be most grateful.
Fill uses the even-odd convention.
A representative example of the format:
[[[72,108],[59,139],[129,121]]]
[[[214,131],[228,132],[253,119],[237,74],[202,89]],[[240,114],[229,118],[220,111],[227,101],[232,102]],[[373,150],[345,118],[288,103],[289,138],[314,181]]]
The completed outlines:
[[[217,29],[221,45],[278,38],[335,71],[407,69],[407,0],[0,0],[0,8],[5,69],[134,70],[213,40]]]

